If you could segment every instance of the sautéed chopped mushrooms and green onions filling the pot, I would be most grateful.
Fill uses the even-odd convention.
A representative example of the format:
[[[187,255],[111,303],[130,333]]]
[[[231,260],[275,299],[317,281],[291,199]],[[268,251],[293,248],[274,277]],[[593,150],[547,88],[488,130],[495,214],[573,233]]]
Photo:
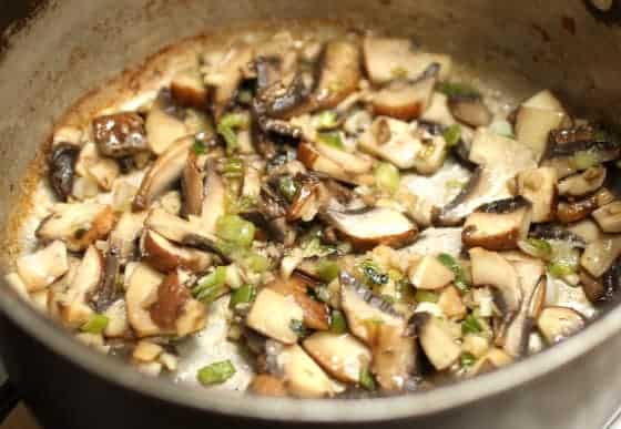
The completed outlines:
[[[614,300],[620,156],[551,92],[502,118],[406,39],[237,41],[138,111],[57,131],[57,201],[8,279],[145,374],[174,371],[175,345],[224,300],[252,392],[429,388],[564,340]],[[446,204],[407,186],[447,160],[468,180]],[[419,251],[444,231],[458,251]]]

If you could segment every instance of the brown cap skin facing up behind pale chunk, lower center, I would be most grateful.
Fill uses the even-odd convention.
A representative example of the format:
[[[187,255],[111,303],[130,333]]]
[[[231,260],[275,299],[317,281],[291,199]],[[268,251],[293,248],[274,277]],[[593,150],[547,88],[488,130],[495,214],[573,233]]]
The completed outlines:
[[[328,308],[324,303],[310,298],[308,279],[294,274],[287,279],[276,279],[266,287],[283,296],[293,296],[304,311],[304,324],[306,326],[317,330],[328,330]]]

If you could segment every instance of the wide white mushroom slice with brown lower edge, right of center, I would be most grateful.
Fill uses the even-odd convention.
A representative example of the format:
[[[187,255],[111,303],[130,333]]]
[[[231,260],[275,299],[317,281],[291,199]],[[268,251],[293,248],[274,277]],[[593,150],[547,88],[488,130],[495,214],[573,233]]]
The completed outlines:
[[[359,251],[380,244],[403,247],[413,243],[418,235],[416,224],[391,208],[365,207],[347,212],[328,210],[325,218]]]

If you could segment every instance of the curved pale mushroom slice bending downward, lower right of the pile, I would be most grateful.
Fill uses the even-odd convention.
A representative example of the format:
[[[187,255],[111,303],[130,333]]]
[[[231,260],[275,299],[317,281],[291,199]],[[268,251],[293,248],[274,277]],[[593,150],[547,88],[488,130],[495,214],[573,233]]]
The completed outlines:
[[[472,283],[478,286],[493,287],[497,290],[495,300],[502,314],[516,314],[523,299],[516,268],[496,252],[475,247],[468,253],[472,269]]]

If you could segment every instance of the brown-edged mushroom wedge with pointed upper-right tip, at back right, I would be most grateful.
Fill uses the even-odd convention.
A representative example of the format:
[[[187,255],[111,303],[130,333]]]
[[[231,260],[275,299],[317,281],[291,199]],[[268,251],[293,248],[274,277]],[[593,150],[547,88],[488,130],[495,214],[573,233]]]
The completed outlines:
[[[397,79],[373,95],[376,115],[386,115],[404,121],[419,118],[431,102],[439,64],[432,64],[417,80]]]

